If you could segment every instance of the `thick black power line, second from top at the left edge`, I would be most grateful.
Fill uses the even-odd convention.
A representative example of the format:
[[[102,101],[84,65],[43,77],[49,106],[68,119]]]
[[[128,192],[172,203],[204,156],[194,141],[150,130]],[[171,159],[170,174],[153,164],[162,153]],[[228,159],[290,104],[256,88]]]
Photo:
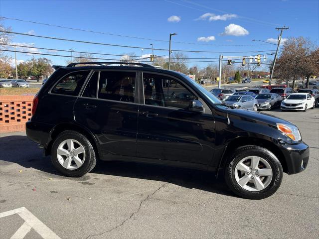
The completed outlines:
[[[10,33],[10,34],[17,34],[17,35],[24,35],[24,36],[33,36],[33,37],[47,38],[47,39],[53,39],[53,40],[62,40],[62,41],[71,41],[71,42],[80,42],[80,43],[87,43],[87,44],[95,44],[95,45],[127,47],[127,48],[138,48],[138,49],[143,48],[143,49],[148,49],[148,50],[153,49],[153,48],[150,48],[150,47],[117,45],[117,44],[110,44],[110,43],[99,43],[99,42],[91,42],[91,41],[71,40],[71,39],[64,39],[64,38],[51,37],[51,36],[32,35],[32,34],[21,33],[21,32],[14,32],[14,31],[3,31],[3,30],[0,30],[0,32]],[[168,51],[168,49],[161,49],[161,48],[154,48],[153,50],[157,50],[157,51]],[[274,51],[274,50],[264,50],[264,51],[195,51],[195,50],[177,50],[177,49],[173,49],[172,51],[194,52],[194,53],[257,53],[257,52],[267,52],[267,51]]]

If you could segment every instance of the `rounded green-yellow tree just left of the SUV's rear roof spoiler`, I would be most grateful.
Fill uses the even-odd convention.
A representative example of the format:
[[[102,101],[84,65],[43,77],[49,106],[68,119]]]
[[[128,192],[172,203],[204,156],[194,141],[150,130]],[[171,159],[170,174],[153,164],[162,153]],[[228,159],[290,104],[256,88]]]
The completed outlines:
[[[53,69],[51,67],[51,60],[44,57],[37,59],[32,57],[32,59],[29,60],[27,64],[29,64],[30,75],[34,76],[37,81],[39,81],[42,77],[51,75],[53,72]]]

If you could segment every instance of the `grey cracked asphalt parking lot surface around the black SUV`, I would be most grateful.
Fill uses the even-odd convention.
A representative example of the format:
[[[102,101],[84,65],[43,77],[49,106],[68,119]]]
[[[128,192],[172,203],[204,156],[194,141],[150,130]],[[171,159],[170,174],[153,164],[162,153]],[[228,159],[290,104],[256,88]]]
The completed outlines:
[[[63,177],[23,132],[2,134],[0,238],[317,239],[319,109],[268,113],[295,123],[311,153],[306,171],[285,174],[277,193],[260,201],[238,198],[211,173],[188,169],[100,162],[82,178]],[[11,210],[23,207],[44,227],[33,218],[37,227],[21,229],[32,217]]]

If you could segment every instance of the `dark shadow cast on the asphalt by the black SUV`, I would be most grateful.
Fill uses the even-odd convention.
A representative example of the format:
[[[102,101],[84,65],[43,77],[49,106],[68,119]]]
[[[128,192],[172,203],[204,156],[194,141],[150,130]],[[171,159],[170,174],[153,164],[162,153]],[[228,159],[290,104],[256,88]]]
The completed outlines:
[[[0,151],[1,167],[17,163],[24,168],[34,168],[44,173],[63,177],[53,167],[50,157],[44,157],[42,149],[26,136],[0,137]],[[162,181],[185,188],[236,197],[228,189],[222,176],[221,179],[216,179],[214,173],[196,169],[133,162],[99,161],[91,173]],[[73,180],[73,178],[69,179]]]

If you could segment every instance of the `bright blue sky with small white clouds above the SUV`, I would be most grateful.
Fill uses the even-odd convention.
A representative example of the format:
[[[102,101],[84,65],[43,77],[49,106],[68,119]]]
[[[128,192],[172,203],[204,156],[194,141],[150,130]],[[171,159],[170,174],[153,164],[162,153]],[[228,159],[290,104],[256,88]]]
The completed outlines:
[[[14,1],[0,0],[0,15],[10,18],[37,21],[66,27],[114,33],[142,38],[168,40],[169,33],[177,33],[173,41],[196,44],[172,43],[172,49],[195,51],[262,51],[275,50],[276,46],[252,41],[278,36],[275,27],[289,26],[283,38],[304,36],[319,42],[318,0],[247,0],[247,1]],[[168,42],[119,37],[105,34],[69,30],[16,20],[1,20],[15,32],[54,36],[67,39],[139,46],[143,54],[150,54],[150,43],[155,48],[168,48]],[[271,40],[270,40],[271,41]],[[141,48],[122,48],[57,41],[15,35],[12,42],[34,43],[33,46],[74,49],[76,51],[123,54],[135,52],[141,56]],[[198,44],[199,43],[199,44]],[[200,45],[210,44],[210,45]],[[221,46],[227,45],[227,46]],[[243,46],[236,46],[243,45]],[[28,49],[29,51],[31,49]],[[69,55],[63,52],[42,53]],[[155,51],[156,55],[168,55],[167,51]],[[188,57],[218,57],[219,53],[186,53]],[[255,55],[257,53],[223,53],[224,55]],[[35,57],[40,57],[35,55]],[[65,64],[66,58],[49,57],[54,64]],[[95,55],[95,57],[114,58]],[[272,56],[271,56],[272,57]],[[18,60],[27,60],[31,55],[18,53]],[[190,60],[189,60],[190,61]],[[204,61],[203,59],[192,61]],[[208,63],[189,63],[203,67]]]

